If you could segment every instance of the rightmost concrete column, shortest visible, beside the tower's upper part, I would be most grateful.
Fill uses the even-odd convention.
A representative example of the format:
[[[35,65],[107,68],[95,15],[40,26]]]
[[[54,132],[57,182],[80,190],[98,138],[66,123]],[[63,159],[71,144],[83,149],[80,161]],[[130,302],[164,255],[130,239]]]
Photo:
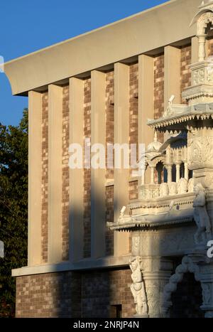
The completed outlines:
[[[168,107],[168,100],[175,95],[175,104],[180,104],[180,49],[173,46],[164,48],[164,107]]]

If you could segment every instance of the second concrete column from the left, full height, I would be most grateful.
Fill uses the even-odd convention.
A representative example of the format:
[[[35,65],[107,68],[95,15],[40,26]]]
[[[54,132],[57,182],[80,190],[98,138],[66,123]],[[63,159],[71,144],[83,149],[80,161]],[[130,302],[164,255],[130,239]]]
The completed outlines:
[[[48,262],[62,259],[62,87],[49,85]]]

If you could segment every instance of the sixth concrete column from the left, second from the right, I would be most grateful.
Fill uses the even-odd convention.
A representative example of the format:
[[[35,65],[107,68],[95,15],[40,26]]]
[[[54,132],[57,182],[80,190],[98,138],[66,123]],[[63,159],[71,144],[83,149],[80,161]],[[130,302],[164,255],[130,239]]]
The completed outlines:
[[[138,144],[153,141],[153,129],[147,120],[154,119],[154,59],[148,55],[138,56]]]

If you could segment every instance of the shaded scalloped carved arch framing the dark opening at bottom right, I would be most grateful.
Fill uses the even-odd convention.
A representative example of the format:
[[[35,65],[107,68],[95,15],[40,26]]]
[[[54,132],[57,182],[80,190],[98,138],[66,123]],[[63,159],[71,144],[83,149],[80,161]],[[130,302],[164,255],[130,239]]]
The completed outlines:
[[[195,280],[197,282],[201,282],[200,270],[197,264],[192,262],[192,259],[190,257],[183,257],[182,263],[178,265],[175,270],[175,274],[170,277],[169,283],[166,284],[163,289],[162,311],[164,316],[168,314],[168,310],[170,309],[170,306],[172,306],[171,296],[173,292],[177,290],[178,284],[182,282],[183,276],[187,272],[195,274]]]

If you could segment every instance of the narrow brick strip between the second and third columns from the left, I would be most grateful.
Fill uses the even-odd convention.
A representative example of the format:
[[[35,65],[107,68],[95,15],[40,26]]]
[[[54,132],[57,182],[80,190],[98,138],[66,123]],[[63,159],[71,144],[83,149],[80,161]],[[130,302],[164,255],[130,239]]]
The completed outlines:
[[[70,196],[70,176],[69,176],[69,85],[63,87],[62,100],[62,259],[69,259],[69,196]]]

